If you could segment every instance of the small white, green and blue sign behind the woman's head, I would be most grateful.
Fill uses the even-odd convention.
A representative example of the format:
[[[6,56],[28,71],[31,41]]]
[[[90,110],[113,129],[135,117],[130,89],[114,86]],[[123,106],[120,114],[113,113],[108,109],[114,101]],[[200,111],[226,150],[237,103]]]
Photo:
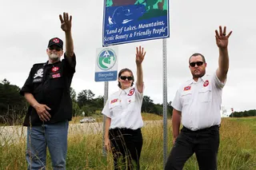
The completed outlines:
[[[118,48],[97,49],[95,81],[116,81],[118,76]]]

